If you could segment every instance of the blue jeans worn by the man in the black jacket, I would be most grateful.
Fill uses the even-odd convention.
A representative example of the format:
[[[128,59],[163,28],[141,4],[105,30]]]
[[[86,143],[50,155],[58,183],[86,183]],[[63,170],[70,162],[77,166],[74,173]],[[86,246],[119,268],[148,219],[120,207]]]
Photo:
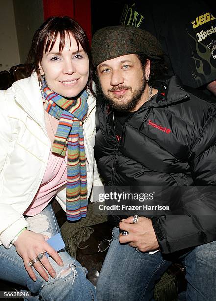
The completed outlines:
[[[110,244],[98,278],[98,301],[148,301],[155,283],[172,264],[161,252],[137,253],[119,243],[119,228],[113,229]],[[216,301],[216,241],[195,247],[179,258],[186,269],[186,298],[190,301]]]

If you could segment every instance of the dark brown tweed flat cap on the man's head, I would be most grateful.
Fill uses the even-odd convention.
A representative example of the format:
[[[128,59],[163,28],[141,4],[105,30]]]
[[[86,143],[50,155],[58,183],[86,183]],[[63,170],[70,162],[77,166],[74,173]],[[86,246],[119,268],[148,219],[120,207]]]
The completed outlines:
[[[160,59],[163,57],[163,50],[152,34],[129,25],[104,27],[93,35],[94,66],[127,54],[144,54],[153,59]]]

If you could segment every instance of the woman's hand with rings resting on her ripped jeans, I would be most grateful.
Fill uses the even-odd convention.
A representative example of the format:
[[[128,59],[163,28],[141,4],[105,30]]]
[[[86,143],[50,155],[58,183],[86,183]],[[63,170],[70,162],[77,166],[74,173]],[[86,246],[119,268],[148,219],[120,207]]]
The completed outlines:
[[[63,261],[61,257],[47,243],[46,240],[48,240],[48,236],[40,233],[28,231],[26,229],[18,236],[18,239],[14,242],[16,251],[23,259],[25,269],[33,281],[36,281],[37,278],[35,276],[32,267],[28,266],[28,263],[34,258],[37,258],[40,253],[48,252],[48,254],[54,259],[54,261],[59,266],[63,266]],[[41,260],[38,260],[36,263],[34,263],[34,268],[38,271],[41,277],[46,281],[48,281],[49,277],[45,270],[48,271],[51,277],[55,278],[56,276],[56,272],[52,268],[46,255],[43,256]]]

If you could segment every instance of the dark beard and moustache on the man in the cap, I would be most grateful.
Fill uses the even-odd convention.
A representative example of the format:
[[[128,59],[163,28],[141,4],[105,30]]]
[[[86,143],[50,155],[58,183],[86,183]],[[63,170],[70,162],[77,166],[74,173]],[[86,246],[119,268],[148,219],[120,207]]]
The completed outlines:
[[[118,111],[118,112],[131,112],[133,111],[133,109],[136,107],[136,105],[139,103],[144,90],[146,87],[146,78],[145,75],[143,74],[143,82],[142,82],[142,86],[135,90],[131,96],[131,99],[128,99],[127,102],[122,102],[121,101],[121,97],[116,97],[116,98],[111,98],[109,96],[105,96],[103,94],[103,100],[109,104],[114,111]],[[99,83],[99,87],[98,87],[98,92],[102,92],[100,83]],[[125,86],[125,85],[119,85],[117,87],[113,87],[112,89],[110,89],[110,92],[116,91],[116,90],[124,90],[124,89],[129,89],[132,92],[132,87],[130,86]],[[123,98],[124,96],[122,96]]]

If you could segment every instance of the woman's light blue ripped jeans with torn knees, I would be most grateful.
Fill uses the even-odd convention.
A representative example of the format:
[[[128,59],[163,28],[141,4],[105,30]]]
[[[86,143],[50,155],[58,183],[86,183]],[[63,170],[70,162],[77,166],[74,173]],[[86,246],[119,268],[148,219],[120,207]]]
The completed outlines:
[[[55,214],[51,205],[48,205],[41,213],[26,217],[30,230],[51,237],[60,233]],[[66,251],[59,252],[64,267],[60,267],[49,257],[52,267],[56,271],[56,278],[49,276],[45,281],[33,268],[37,277],[34,282],[25,270],[22,258],[12,246],[6,249],[0,246],[0,278],[2,280],[17,283],[27,287],[33,294],[24,300],[46,301],[96,301],[96,292],[93,284],[86,279],[87,270],[78,261],[72,258]]]

